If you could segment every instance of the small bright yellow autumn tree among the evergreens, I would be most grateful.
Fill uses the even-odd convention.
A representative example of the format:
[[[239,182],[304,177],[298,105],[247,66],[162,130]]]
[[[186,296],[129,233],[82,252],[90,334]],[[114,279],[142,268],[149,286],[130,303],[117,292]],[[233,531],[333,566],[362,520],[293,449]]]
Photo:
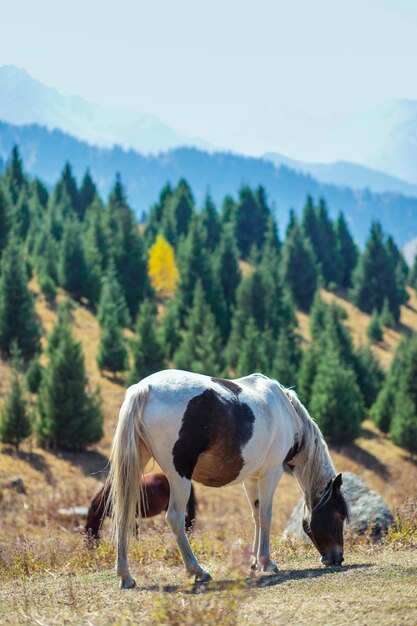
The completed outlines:
[[[172,297],[180,275],[174,249],[162,235],[157,236],[149,250],[148,274],[157,296]]]

